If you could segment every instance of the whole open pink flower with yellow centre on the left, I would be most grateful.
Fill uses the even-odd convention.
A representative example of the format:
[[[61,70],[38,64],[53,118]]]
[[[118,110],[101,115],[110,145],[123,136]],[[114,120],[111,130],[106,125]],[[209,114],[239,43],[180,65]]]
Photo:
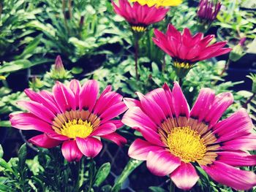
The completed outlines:
[[[56,82],[53,93],[36,93],[25,90],[31,101],[18,101],[18,105],[28,110],[18,115],[10,115],[12,126],[22,130],[43,132],[29,139],[39,147],[56,147],[67,161],[79,161],[83,155],[94,158],[102,150],[100,138],[109,139],[121,145],[127,142],[116,134],[122,126],[121,120],[113,120],[127,110],[122,96],[111,91],[109,85],[99,98],[99,85],[89,80],[81,87],[78,80],[69,86]]]

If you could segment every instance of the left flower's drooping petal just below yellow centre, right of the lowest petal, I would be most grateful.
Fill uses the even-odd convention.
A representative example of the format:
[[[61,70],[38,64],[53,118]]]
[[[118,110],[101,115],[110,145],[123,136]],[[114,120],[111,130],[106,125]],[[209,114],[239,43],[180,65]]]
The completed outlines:
[[[102,150],[102,142],[94,137],[88,137],[86,139],[76,137],[76,143],[83,155],[89,158],[94,158]]]

